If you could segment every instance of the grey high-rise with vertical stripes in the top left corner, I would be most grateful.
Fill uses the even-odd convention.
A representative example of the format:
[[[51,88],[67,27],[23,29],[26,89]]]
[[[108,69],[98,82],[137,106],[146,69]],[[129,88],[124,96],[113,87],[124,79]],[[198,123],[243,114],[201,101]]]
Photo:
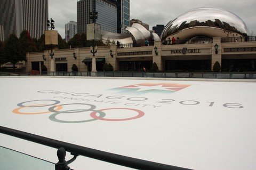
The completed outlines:
[[[1,0],[0,25],[4,38],[20,36],[27,30],[32,38],[39,38],[47,29],[48,0]]]

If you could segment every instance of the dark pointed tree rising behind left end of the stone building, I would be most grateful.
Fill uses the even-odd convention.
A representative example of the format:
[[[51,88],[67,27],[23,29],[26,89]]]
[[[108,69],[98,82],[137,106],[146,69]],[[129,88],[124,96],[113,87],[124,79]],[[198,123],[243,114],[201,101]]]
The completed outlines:
[[[26,59],[26,53],[37,51],[36,43],[30,37],[30,34],[27,30],[23,30],[21,32],[19,41],[20,41],[20,55],[23,58],[23,60]]]

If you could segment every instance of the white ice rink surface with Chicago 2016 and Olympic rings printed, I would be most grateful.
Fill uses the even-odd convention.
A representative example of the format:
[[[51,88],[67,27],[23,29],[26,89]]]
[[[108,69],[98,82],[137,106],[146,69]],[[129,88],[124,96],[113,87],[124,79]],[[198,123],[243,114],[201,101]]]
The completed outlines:
[[[256,83],[0,78],[0,125],[190,169],[256,169]],[[0,134],[53,163],[57,149]],[[66,160],[72,156],[67,153]],[[130,169],[78,156],[79,169]]]

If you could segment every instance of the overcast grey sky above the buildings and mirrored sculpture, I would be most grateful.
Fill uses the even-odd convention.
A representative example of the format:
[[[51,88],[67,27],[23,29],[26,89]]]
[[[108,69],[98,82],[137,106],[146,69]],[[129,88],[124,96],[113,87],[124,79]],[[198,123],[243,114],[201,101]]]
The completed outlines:
[[[77,0],[49,0],[49,18],[55,21],[55,30],[65,38],[65,23],[77,21]],[[174,17],[197,7],[217,7],[235,13],[241,18],[249,34],[256,35],[255,0],[130,0],[130,19],[139,19],[149,25],[166,25]]]

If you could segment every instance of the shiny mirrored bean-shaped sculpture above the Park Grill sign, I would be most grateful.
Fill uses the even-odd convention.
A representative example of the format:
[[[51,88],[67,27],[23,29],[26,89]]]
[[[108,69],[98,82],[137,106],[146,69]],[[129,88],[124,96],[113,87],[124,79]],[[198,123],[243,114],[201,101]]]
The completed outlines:
[[[164,27],[161,39],[245,36],[247,33],[244,21],[237,15],[226,10],[205,7],[192,9],[175,17]]]

